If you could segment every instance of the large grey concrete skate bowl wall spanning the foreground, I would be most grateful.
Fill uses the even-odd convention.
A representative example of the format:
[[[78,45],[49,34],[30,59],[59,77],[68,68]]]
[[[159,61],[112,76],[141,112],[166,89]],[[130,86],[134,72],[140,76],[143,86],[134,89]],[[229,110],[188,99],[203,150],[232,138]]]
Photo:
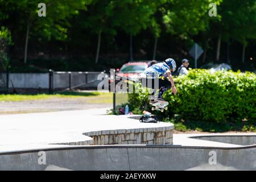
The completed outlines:
[[[44,151],[46,164],[39,164]],[[209,164],[210,154],[216,164]],[[187,146],[74,146],[0,154],[0,170],[256,170],[256,145],[221,148]]]

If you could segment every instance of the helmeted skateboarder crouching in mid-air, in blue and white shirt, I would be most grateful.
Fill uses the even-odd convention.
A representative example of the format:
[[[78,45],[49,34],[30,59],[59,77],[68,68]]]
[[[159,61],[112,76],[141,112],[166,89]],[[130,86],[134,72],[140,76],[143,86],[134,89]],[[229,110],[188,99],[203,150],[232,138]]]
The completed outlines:
[[[166,59],[162,63],[157,63],[148,67],[141,76],[142,85],[150,89],[159,89],[158,98],[155,98],[154,92],[151,94],[150,104],[156,104],[157,102],[163,102],[163,93],[172,88],[172,92],[176,94],[174,79],[171,72],[176,69],[176,63],[174,59]],[[169,78],[169,80],[167,80]],[[167,102],[168,103],[168,102]]]

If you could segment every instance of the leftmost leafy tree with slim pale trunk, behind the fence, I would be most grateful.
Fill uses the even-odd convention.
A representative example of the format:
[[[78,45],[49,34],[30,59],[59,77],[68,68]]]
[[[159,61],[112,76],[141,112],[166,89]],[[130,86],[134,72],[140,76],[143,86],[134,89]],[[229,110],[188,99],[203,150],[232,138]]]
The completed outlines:
[[[65,19],[71,15],[78,14],[80,9],[85,9],[90,0],[45,0],[46,17],[38,16],[38,5],[41,1],[35,0],[9,0],[1,2],[5,9],[15,11],[19,14],[20,27],[26,27],[26,43],[24,46],[24,63],[27,63],[28,39],[31,33],[43,35],[48,40],[52,37],[56,39],[65,39],[67,25]],[[9,9],[9,7],[11,9]],[[32,30],[31,30],[32,28]],[[42,34],[39,34],[42,33]]]

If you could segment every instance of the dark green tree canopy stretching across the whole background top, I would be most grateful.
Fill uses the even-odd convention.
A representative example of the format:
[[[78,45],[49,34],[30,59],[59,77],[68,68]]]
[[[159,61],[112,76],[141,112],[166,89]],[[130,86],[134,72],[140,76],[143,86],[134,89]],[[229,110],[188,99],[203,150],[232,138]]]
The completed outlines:
[[[50,57],[88,56],[94,51],[97,33],[103,43],[102,57],[112,55],[116,59],[127,53],[126,34],[129,34],[137,35],[133,42],[135,59],[142,56],[151,59],[155,36],[159,38],[155,39],[158,40],[156,59],[166,58],[170,50],[175,59],[184,56],[189,59],[188,50],[197,42],[205,51],[199,64],[204,64],[203,57],[205,61],[214,57],[216,38],[221,35],[222,41],[232,44],[233,65],[240,64],[242,50],[238,52],[236,45],[240,42],[248,45],[245,64],[255,66],[250,59],[255,60],[255,0],[45,0],[46,17],[38,16],[40,2],[0,0],[1,26],[9,28],[14,41],[10,49],[12,59],[23,55],[28,30],[28,58],[39,56],[39,52]],[[208,15],[209,3],[216,3],[217,17]],[[220,60],[224,61],[227,51],[221,45]]]

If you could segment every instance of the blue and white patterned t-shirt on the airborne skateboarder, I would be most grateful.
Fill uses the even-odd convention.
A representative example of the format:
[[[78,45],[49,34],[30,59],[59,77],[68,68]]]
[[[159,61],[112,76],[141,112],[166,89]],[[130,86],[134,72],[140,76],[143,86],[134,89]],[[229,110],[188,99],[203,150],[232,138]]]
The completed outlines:
[[[164,74],[171,72],[169,66],[166,63],[157,63],[144,70],[141,77],[145,78],[159,78]]]

